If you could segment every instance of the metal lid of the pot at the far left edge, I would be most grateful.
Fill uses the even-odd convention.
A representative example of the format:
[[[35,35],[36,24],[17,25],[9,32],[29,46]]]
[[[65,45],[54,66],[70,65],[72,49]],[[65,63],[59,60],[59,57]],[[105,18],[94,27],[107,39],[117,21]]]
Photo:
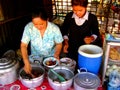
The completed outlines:
[[[16,64],[16,60],[0,58],[0,69],[6,69]]]

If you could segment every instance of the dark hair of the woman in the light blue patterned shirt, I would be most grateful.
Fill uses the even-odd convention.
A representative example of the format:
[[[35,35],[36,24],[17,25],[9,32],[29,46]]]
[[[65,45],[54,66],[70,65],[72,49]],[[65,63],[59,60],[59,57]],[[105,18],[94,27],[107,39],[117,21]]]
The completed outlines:
[[[43,20],[48,19],[47,13],[44,8],[36,8],[32,11],[32,19],[36,17],[40,17]]]

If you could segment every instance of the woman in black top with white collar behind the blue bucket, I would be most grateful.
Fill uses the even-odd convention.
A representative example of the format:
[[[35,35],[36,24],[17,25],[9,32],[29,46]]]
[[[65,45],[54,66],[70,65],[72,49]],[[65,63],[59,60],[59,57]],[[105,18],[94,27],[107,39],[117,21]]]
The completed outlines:
[[[62,25],[63,52],[78,60],[78,48],[84,44],[101,46],[97,17],[87,11],[88,0],[72,0],[73,12],[66,15]]]

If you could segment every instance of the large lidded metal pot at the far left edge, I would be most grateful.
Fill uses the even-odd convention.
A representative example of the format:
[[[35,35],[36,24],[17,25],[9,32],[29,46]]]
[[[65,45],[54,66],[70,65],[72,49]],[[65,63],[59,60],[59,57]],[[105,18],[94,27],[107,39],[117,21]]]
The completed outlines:
[[[0,84],[6,85],[18,79],[19,61],[7,57],[0,59]]]

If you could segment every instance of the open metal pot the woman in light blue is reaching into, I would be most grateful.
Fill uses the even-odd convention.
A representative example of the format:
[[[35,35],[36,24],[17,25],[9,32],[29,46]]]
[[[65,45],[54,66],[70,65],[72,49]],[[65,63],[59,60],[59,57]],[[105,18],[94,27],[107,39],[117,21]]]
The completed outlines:
[[[30,77],[22,68],[19,72],[21,83],[28,88],[35,88],[42,84],[44,80],[45,70],[40,64],[31,64],[32,70],[36,73],[35,77]],[[34,75],[34,74],[33,74]]]

